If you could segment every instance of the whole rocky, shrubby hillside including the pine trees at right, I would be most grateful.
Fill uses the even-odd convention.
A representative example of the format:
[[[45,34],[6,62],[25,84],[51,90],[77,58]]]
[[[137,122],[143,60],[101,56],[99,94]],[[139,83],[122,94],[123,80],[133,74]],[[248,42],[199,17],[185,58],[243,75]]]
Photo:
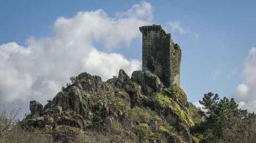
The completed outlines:
[[[256,115],[233,98],[209,92],[201,110],[178,85],[137,73],[121,71],[108,83],[82,73],[44,108],[31,101],[22,121],[19,109],[2,106],[0,142],[255,142]]]

